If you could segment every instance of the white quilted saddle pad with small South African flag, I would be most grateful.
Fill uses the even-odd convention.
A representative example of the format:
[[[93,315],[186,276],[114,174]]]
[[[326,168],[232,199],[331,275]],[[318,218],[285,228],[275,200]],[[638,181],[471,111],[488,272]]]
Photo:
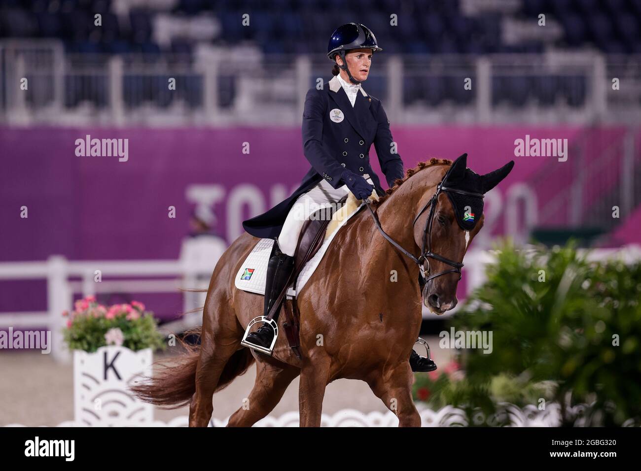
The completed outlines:
[[[328,230],[332,227],[335,228],[329,236],[325,236],[325,240],[320,246],[318,252],[316,252],[312,260],[308,261],[303,267],[303,270],[301,270],[301,273],[296,280],[296,289],[294,289],[294,286],[292,285],[287,290],[287,297],[289,299],[291,299],[292,296],[296,296],[296,293],[301,292],[305,283],[307,283],[314,270],[316,270],[316,267],[318,267],[320,260],[322,260],[322,257],[327,251],[329,244],[331,244],[331,241],[334,239],[334,236],[337,235],[340,228],[343,227],[354,214],[358,213],[360,208],[364,205],[364,202],[360,202],[358,206],[355,206],[356,209],[351,209],[351,212],[347,213],[347,215],[342,215],[343,219],[340,222],[338,222],[338,220],[333,220],[329,223]],[[343,208],[346,206],[347,205],[343,206]],[[269,261],[269,254],[272,252],[273,245],[273,239],[261,239],[258,241],[258,244],[256,244],[253,251],[251,251],[247,256],[244,263],[240,265],[240,270],[238,270],[238,273],[236,274],[235,285],[239,290],[265,295],[267,262]]]

